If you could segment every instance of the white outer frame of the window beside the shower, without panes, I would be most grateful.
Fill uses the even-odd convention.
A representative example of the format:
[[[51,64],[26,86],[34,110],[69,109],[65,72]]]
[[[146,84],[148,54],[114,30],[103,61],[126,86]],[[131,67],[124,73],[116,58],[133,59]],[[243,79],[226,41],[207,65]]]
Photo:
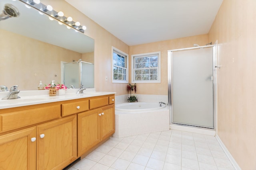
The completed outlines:
[[[146,56],[152,56],[152,55],[158,55],[158,70],[157,70],[157,80],[135,80],[135,68],[134,68],[134,58],[135,57],[146,57]],[[152,53],[142,53],[142,54],[135,54],[132,55],[132,83],[161,83],[161,51],[156,51]]]

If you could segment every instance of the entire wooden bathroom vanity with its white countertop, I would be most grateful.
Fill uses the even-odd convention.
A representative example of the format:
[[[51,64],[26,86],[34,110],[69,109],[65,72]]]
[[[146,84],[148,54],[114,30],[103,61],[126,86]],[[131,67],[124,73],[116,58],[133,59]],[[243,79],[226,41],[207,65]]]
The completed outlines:
[[[115,132],[114,98],[90,92],[1,100],[0,169],[60,170],[85,156]]]

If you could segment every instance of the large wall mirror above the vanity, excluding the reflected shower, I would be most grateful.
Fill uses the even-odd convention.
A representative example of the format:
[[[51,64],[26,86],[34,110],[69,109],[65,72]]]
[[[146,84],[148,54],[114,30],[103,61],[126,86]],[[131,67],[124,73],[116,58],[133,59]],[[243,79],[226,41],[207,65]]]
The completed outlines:
[[[0,85],[36,90],[40,80],[62,83],[62,63],[94,63],[94,39],[19,0],[1,0],[0,12],[6,4],[15,6],[20,16],[0,20]]]

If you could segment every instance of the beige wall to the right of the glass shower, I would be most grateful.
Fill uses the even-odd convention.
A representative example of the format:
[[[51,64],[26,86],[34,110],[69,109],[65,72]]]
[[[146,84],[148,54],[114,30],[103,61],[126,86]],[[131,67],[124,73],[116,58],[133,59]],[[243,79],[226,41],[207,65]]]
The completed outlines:
[[[218,135],[243,170],[255,170],[256,1],[224,0],[209,32],[217,39]]]

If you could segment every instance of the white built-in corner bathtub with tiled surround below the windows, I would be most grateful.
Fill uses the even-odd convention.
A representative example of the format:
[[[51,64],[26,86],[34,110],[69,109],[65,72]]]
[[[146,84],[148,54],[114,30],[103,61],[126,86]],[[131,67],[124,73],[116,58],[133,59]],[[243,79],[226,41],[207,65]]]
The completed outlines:
[[[128,137],[169,130],[169,107],[152,102],[117,104],[116,132],[113,137]]]

